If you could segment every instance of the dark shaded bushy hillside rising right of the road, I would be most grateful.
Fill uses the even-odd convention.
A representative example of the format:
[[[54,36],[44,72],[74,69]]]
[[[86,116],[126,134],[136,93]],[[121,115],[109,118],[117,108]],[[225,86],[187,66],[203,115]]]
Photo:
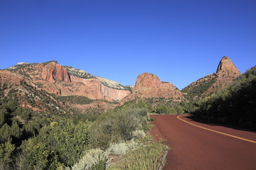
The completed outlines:
[[[193,116],[208,122],[256,130],[256,67],[242,74],[219,93],[201,101]]]

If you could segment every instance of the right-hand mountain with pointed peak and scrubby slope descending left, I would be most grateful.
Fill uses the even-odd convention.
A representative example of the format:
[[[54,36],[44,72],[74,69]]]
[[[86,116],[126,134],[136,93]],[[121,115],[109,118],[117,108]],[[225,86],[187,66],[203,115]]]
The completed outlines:
[[[240,72],[235,67],[235,64],[225,56],[220,60],[216,73],[194,81],[182,89],[182,92],[187,94],[186,97],[190,101],[204,98],[223,89],[239,75]]]

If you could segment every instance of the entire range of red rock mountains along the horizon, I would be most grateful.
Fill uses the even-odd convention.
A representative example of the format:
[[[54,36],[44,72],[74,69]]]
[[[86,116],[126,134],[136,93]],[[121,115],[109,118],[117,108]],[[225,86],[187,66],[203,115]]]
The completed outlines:
[[[0,87],[5,88],[3,97],[8,96],[9,91],[16,91],[16,99],[21,105],[33,108],[34,111],[47,111],[51,108],[51,111],[57,109],[63,113],[76,110],[85,113],[98,108],[106,111],[140,98],[152,108],[192,101],[214,94],[239,75],[233,62],[223,57],[216,73],[198,79],[180,91],[174,84],[162,82],[159,77],[149,73],[140,74],[134,86],[123,86],[81,69],[62,66],[57,61],[19,62],[13,67],[0,70]]]

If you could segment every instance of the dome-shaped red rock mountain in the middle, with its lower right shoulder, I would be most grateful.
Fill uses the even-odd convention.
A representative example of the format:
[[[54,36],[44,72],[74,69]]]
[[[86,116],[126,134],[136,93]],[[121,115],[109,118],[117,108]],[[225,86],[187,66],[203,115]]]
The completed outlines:
[[[173,98],[174,101],[181,101],[183,94],[174,84],[161,82],[154,74],[143,73],[137,77],[132,94],[124,98],[124,101],[134,98]]]

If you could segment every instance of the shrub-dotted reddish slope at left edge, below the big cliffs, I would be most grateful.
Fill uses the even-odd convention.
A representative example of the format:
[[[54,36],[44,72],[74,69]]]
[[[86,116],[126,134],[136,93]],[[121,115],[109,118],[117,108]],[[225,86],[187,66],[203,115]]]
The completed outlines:
[[[53,98],[46,91],[29,81],[27,77],[0,70],[0,99],[16,101],[23,108],[46,113],[73,113],[72,109]]]

